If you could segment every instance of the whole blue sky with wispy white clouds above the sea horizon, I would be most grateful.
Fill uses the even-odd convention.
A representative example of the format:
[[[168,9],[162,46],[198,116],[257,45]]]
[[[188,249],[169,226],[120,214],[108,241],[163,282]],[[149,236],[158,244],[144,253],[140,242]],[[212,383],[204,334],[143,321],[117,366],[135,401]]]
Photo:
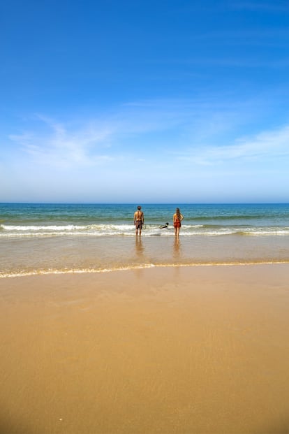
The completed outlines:
[[[0,201],[289,202],[288,0],[3,0]]]

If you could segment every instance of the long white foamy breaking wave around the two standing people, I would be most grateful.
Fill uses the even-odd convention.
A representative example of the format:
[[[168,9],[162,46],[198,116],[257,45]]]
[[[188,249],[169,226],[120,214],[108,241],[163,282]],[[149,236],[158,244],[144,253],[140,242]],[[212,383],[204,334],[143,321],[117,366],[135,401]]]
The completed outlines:
[[[174,229],[160,229],[158,225],[145,224],[142,235],[172,236]],[[183,224],[182,236],[289,236],[289,226],[224,226],[216,224]],[[0,238],[47,236],[134,236],[132,224],[89,225],[7,225],[0,224]]]

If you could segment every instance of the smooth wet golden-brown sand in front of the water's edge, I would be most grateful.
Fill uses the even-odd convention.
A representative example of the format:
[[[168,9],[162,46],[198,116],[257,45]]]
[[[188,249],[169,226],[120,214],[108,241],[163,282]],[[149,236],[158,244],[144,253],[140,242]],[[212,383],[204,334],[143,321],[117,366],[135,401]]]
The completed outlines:
[[[0,434],[289,433],[289,264],[0,280]]]

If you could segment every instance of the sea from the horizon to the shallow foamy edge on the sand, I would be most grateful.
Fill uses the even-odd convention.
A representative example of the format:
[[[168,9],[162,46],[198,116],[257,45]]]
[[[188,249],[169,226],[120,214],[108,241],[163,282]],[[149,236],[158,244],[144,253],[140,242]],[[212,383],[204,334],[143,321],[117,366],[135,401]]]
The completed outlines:
[[[137,205],[0,203],[0,277],[289,262],[289,204]]]

